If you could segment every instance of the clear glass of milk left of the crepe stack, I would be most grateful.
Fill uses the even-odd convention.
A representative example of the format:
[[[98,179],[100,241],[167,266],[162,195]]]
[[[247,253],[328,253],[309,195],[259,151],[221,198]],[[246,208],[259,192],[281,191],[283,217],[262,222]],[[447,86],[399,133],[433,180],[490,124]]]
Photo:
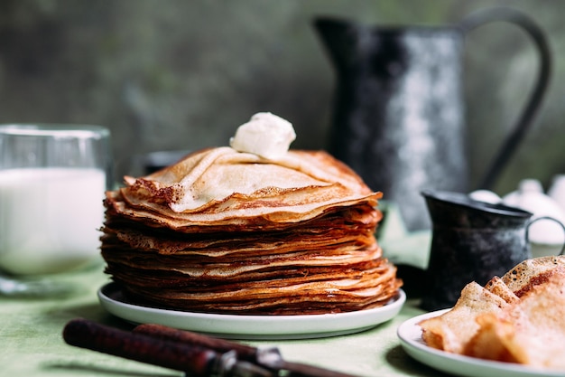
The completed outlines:
[[[105,127],[0,125],[0,271],[37,277],[99,258],[113,184]]]

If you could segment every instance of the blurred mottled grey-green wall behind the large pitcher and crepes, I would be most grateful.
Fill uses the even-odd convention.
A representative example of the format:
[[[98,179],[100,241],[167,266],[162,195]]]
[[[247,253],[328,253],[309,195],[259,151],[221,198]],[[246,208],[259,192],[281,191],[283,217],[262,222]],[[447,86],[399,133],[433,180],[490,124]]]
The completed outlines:
[[[489,6],[529,14],[553,53],[542,111],[496,184],[523,178],[545,188],[565,173],[565,2],[558,0],[2,0],[0,122],[110,127],[116,180],[156,150],[225,146],[258,111],[292,121],[293,147],[327,146],[333,67],[312,20],[369,25],[456,24]],[[468,36],[465,53],[469,165],[476,182],[533,86],[527,35],[497,23]]]

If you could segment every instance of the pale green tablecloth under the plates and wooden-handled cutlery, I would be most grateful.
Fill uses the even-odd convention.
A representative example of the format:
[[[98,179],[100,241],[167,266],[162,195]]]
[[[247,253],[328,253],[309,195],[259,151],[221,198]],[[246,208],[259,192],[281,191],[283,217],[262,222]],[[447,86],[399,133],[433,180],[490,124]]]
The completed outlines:
[[[131,329],[108,314],[97,301],[97,289],[109,281],[102,263],[57,277],[73,288],[63,297],[0,297],[1,376],[180,376],[153,365],[136,363],[65,344],[61,332],[71,319],[82,317]],[[393,320],[355,335],[292,341],[254,341],[278,346],[288,361],[311,363],[359,376],[438,376],[413,361],[396,337],[404,320],[421,314],[408,300]]]

